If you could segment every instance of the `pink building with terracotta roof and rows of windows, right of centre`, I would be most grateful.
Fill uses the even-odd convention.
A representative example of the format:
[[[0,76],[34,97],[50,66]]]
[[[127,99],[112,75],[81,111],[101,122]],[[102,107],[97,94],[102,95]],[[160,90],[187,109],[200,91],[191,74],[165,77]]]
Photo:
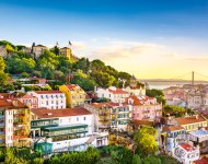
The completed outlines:
[[[154,97],[129,96],[125,104],[131,107],[132,120],[158,120],[162,117],[162,104],[159,104]]]

